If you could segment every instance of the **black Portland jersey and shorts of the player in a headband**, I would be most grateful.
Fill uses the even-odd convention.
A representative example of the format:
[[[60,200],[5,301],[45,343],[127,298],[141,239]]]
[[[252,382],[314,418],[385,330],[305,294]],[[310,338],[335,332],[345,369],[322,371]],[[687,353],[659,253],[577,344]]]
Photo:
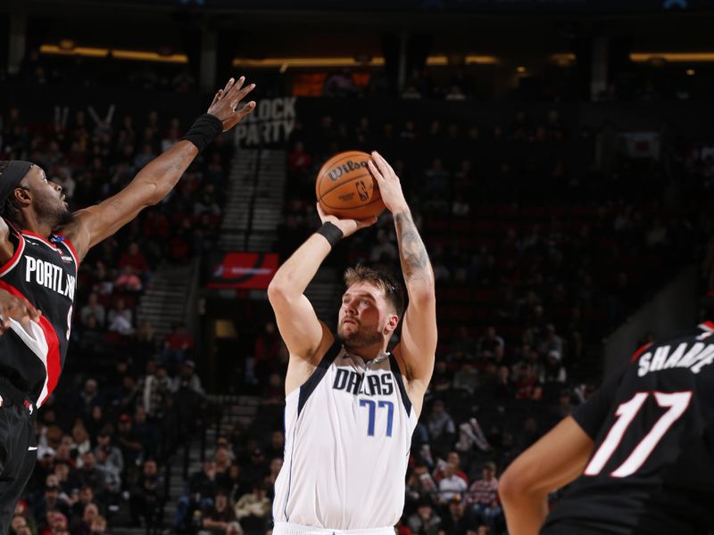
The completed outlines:
[[[0,289],[42,312],[39,321],[0,336],[0,526],[12,512],[37,458],[32,421],[57,385],[70,339],[79,260],[62,236],[49,239],[10,227],[14,254],[0,266]]]

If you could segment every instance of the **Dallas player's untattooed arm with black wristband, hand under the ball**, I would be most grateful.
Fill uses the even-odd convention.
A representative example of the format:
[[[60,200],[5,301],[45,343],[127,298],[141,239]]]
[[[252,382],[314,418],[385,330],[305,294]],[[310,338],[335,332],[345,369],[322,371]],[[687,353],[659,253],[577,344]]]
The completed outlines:
[[[343,237],[373,224],[377,218],[367,221],[337,219],[326,215],[320,206],[318,213],[324,223],[331,223],[342,231]],[[278,330],[292,356],[311,362],[327,337],[328,326],[320,322],[310,300],[304,292],[317,274],[322,262],[328,257],[332,246],[319,234],[313,234],[278,269],[268,286],[268,299],[275,311]]]

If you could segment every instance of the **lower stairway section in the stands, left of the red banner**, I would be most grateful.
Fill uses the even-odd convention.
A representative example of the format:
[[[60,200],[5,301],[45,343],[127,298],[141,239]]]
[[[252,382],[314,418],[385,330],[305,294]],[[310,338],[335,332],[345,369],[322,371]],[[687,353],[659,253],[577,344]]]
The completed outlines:
[[[162,341],[174,324],[187,322],[189,297],[198,264],[175,266],[163,264],[154,271],[152,284],[139,300],[138,322],[148,322],[154,328],[156,340]]]

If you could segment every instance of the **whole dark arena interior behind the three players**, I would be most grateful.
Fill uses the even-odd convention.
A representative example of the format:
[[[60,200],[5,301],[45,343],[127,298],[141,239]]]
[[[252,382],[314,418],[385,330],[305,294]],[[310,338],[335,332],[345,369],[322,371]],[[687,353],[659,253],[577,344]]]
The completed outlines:
[[[72,209],[229,77],[258,103],[84,260],[12,533],[270,533],[287,353],[266,288],[318,228],[336,152],[394,164],[436,274],[401,535],[506,533],[511,461],[643,342],[704,318],[712,2],[297,4],[0,4],[0,159],[40,164]],[[328,325],[358,262],[398,268],[388,212],[308,288]]]

